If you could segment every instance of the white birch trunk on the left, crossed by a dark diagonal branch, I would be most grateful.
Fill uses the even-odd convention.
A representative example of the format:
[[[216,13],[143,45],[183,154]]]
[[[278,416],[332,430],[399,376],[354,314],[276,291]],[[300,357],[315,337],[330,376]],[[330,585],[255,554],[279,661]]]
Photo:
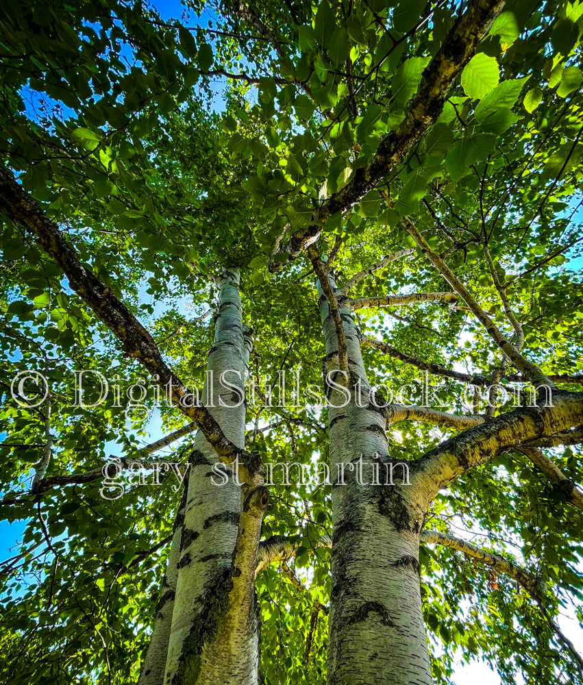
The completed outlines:
[[[236,269],[219,279],[210,401],[203,401],[225,436],[243,447],[241,399],[251,338],[243,331],[238,279]],[[221,484],[228,467],[213,471],[217,458],[200,432],[191,462],[164,684],[255,685],[259,617],[253,580],[266,491],[260,484],[241,488],[232,472]]]

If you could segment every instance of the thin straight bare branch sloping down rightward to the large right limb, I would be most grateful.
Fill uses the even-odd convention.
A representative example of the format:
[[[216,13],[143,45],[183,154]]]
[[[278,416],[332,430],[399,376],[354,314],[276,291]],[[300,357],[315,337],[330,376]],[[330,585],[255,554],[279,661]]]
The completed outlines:
[[[504,352],[504,354],[506,354],[514,366],[516,366],[517,369],[519,369],[519,371],[521,371],[521,373],[532,382],[546,384],[551,388],[554,388],[554,383],[551,382],[547,376],[545,376],[541,369],[539,369],[535,364],[532,364],[526,360],[521,353],[519,353],[517,349],[514,349],[508,340],[506,340],[492,319],[488,316],[488,314],[486,314],[486,312],[484,312],[484,310],[482,310],[477,301],[472,297],[466,286],[464,286],[464,284],[462,284],[460,279],[458,279],[453,271],[449,269],[449,266],[445,264],[441,257],[439,257],[431,249],[425,238],[423,238],[421,233],[419,233],[411,221],[409,219],[404,219],[403,224],[408,234],[415,240],[415,242],[417,242],[417,245],[421,247],[423,254],[430,260],[430,262],[432,262],[432,264],[434,264],[439,273],[443,275],[443,277],[447,280],[449,285],[454,288],[458,295],[460,295],[473,314],[475,314],[477,320],[482,323],[489,336],[491,336],[495,343],[499,345],[501,350]]]

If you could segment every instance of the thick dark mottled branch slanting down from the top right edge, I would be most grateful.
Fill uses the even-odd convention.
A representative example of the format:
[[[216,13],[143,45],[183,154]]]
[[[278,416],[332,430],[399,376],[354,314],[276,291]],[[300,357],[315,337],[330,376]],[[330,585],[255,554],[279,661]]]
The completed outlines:
[[[273,260],[269,264],[270,271],[279,271],[284,263],[297,259],[318,240],[330,216],[345,212],[401,164],[406,154],[441,114],[451,86],[472,58],[494,19],[504,9],[504,4],[504,0],[474,0],[458,16],[423,72],[419,90],[412,99],[405,119],[381,141],[371,162],[356,169],[351,181],[314,211],[310,225],[297,230],[290,241],[280,247],[277,256],[285,257],[286,262]]]

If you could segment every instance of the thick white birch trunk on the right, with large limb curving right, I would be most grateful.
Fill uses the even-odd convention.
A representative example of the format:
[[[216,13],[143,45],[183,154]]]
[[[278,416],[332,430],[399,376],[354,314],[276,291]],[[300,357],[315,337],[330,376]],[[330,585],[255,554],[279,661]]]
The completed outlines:
[[[336,292],[332,279],[330,284]],[[326,368],[338,369],[338,336],[321,288],[319,295]],[[351,310],[345,297],[338,304],[349,380],[336,373],[332,381],[344,383],[350,397],[327,385],[328,400],[337,406],[329,408],[334,533],[328,683],[430,685],[419,582],[423,511],[412,486],[401,485],[405,469],[392,471],[386,410],[369,397]],[[375,401],[384,403],[378,395]],[[383,485],[391,473],[394,486]]]

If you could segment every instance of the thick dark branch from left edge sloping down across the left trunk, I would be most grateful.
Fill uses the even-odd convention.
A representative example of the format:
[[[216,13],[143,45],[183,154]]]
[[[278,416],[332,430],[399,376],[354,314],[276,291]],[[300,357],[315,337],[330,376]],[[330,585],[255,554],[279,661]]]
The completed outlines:
[[[195,395],[184,387],[166,365],[149,332],[88,266],[79,261],[57,225],[47,219],[38,202],[5,169],[0,169],[0,208],[12,221],[21,223],[37,236],[39,244],[64,271],[71,288],[119,338],[123,351],[141,362],[157,378],[159,386],[175,406],[199,425],[221,461],[229,464],[236,457],[239,458],[243,467],[240,475],[246,482],[251,482],[261,468],[258,456],[247,453],[227,440],[208,409],[197,402]]]

